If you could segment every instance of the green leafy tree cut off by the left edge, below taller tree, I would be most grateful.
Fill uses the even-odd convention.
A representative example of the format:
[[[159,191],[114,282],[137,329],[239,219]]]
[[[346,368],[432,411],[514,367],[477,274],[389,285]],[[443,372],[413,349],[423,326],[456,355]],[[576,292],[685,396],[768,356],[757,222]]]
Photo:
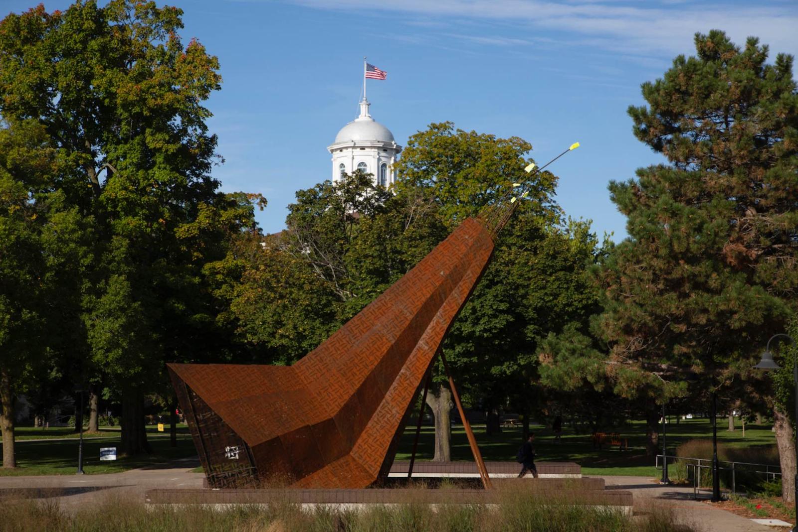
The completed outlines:
[[[46,373],[73,338],[81,221],[46,184],[60,160],[35,120],[0,125],[0,429],[15,467],[14,395]]]

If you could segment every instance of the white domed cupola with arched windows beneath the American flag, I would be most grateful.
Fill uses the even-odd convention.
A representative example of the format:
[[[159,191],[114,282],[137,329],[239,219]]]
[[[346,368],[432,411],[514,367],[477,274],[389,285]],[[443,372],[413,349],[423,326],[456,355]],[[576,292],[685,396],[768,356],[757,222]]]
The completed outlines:
[[[373,174],[377,185],[388,187],[396,180],[394,163],[401,151],[389,129],[371,118],[369,100],[360,102],[360,115],[338,131],[327,150],[333,155],[333,182],[341,174],[363,170]]]

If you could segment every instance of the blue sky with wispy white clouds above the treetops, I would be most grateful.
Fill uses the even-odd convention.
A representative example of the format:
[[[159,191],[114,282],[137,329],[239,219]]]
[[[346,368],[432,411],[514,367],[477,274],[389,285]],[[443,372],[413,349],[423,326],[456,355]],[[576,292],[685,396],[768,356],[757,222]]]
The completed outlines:
[[[47,10],[70,2],[45,2]],[[591,219],[599,237],[626,236],[610,180],[661,158],[639,143],[626,115],[639,86],[693,33],[725,29],[740,45],[758,36],[798,53],[798,2],[633,0],[177,0],[186,43],[219,57],[222,90],[207,107],[226,162],[214,170],[228,191],[259,192],[267,233],[284,227],[294,192],[330,176],[326,147],[358,113],[362,57],[388,72],[369,80],[375,119],[405,145],[429,123],[517,135],[551,168],[567,215]],[[34,1],[0,0],[0,14]]]

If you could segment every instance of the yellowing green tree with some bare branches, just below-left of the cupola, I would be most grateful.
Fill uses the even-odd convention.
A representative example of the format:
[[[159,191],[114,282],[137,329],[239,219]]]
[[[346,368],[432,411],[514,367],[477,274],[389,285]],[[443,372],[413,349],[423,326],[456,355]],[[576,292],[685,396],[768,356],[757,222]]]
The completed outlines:
[[[391,195],[356,172],[299,190],[285,231],[243,238],[246,265],[231,291],[240,337],[262,363],[290,364],[313,350],[379,291],[353,259],[364,221],[384,212]]]

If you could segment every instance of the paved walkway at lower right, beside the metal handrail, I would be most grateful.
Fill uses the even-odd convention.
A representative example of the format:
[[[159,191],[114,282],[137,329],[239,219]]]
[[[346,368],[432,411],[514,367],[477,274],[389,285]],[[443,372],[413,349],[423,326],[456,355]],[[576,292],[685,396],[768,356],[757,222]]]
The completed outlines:
[[[585,475],[594,476],[594,475]],[[693,499],[692,487],[662,486],[642,476],[602,476],[606,489],[629,490],[634,495],[635,512],[660,505],[673,508],[677,518],[700,532],[773,532],[787,527],[760,525],[712,504]],[[704,498],[704,500],[707,497]]]

